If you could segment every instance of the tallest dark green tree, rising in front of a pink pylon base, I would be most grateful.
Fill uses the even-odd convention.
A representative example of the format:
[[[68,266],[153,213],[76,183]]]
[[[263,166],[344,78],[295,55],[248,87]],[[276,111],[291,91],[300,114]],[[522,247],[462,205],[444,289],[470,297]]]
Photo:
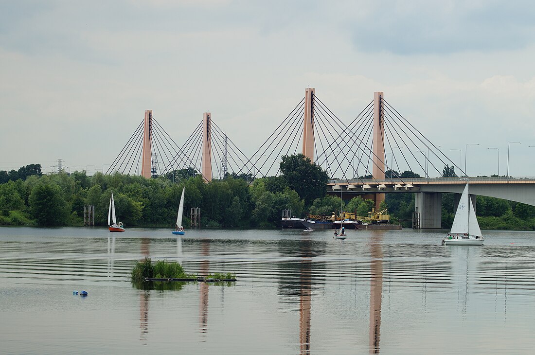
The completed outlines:
[[[286,180],[287,186],[310,204],[316,198],[322,198],[327,191],[327,173],[310,158],[302,154],[283,156],[280,172]]]

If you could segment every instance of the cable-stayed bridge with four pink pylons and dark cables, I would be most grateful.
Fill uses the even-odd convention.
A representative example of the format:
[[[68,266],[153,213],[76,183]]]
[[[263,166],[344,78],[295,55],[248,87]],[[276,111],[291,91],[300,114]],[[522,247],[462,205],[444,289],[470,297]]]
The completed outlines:
[[[330,194],[346,199],[363,195],[373,199],[378,209],[386,193],[415,193],[419,226],[440,228],[440,194],[460,194],[467,176],[440,148],[388,103],[383,92],[375,92],[372,101],[345,124],[315,95],[314,88],[307,88],[299,103],[249,156],[216,125],[210,112],[203,114],[200,124],[179,145],[152,116],[152,110],[147,110],[107,173],[150,178],[165,174],[187,177],[198,172],[206,181],[228,174],[254,179],[280,174],[281,156],[302,153],[331,177]],[[442,179],[446,166],[451,177]],[[535,179],[496,176],[485,182],[470,181],[474,183],[472,195],[535,205]]]

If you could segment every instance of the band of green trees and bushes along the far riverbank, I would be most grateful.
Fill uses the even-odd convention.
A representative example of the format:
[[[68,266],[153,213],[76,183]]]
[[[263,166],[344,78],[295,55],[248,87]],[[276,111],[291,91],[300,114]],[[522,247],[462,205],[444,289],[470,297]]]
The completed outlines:
[[[104,226],[112,190],[118,221],[127,227],[174,226],[183,187],[185,226],[190,207],[201,207],[203,227],[279,228],[282,210],[292,210],[295,217],[330,216],[342,207],[365,216],[373,206],[361,197],[341,201],[326,195],[327,173],[302,155],[282,157],[280,172],[261,179],[227,174],[207,183],[194,168],[145,179],[100,172],[87,176],[85,171],[45,175],[39,164],[30,164],[0,171],[0,225],[82,226],[84,206],[94,205],[95,224]],[[400,175],[417,177],[410,171]],[[392,222],[410,227],[414,194],[386,194],[381,207],[388,208]],[[478,196],[476,210],[482,229],[535,229],[534,206]],[[442,194],[442,227],[451,226],[454,214],[454,195]]]

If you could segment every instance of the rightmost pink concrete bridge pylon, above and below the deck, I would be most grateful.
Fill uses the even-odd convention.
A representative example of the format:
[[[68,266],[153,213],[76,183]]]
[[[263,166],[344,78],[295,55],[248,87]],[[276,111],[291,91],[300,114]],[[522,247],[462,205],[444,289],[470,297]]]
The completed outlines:
[[[384,129],[383,92],[373,93],[373,179],[385,179],[385,129]],[[375,195],[375,210],[380,211],[385,194]]]

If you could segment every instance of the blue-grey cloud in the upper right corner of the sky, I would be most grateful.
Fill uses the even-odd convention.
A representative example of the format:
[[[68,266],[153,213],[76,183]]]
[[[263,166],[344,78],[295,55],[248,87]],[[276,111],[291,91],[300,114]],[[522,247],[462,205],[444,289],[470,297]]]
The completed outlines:
[[[346,25],[358,51],[397,55],[492,52],[535,39],[532,2],[381,2]]]

